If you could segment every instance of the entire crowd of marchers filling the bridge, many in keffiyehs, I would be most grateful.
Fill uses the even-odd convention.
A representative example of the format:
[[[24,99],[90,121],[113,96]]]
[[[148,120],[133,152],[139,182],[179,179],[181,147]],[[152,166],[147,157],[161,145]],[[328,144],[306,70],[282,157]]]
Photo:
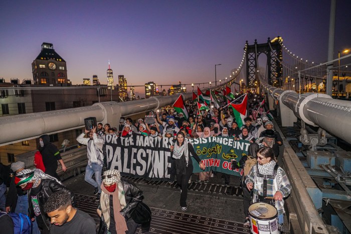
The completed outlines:
[[[96,209],[101,217],[97,225],[93,218],[76,208],[75,195],[65,187],[56,171],[58,163],[62,170],[66,166],[59,150],[50,143],[48,135],[40,137],[40,148],[34,160],[36,169],[26,169],[26,165],[15,162],[11,174],[6,166],[0,167],[0,229],[4,233],[14,233],[16,222],[9,214],[28,216],[27,233],[134,233],[139,227],[147,233],[150,227],[151,212],[142,202],[143,192],[135,184],[123,179],[118,170],[108,169],[105,157],[104,135],[112,134],[128,138],[134,134],[154,138],[173,138],[170,146],[172,167],[170,183],[176,181],[180,187],[180,208],[187,210],[188,184],[192,179],[193,168],[205,165],[195,153],[190,138],[229,137],[246,140],[250,143],[247,156],[233,161],[233,169],[243,169],[247,160],[256,159],[257,163],[240,178],[243,189],[244,224],[249,224],[248,209],[251,203],[265,202],[276,207],[278,223],[284,220],[284,198],[290,194],[291,185],[284,170],[277,164],[282,145],[280,134],[275,131],[271,114],[265,111],[263,96],[248,93],[248,108],[244,119],[240,119],[226,98],[222,103],[210,103],[199,109],[193,101],[186,103],[186,113],[173,108],[154,111],[150,123],[145,119],[132,120],[120,118],[119,126],[99,123],[86,129],[77,141],[87,146],[88,163],[85,181],[99,200]],[[245,96],[245,95],[244,95]],[[242,100],[241,95],[238,103]],[[148,122],[148,123],[146,123]],[[197,162],[193,165],[194,157]],[[194,162],[195,162],[194,161]],[[208,183],[216,172],[200,172],[197,181]],[[223,182],[230,184],[231,176],[222,174]],[[233,180],[233,179],[232,179]],[[266,181],[265,181],[266,180]],[[274,186],[263,186],[264,184]],[[8,187],[8,192],[7,191]],[[26,233],[26,232],[23,232]]]

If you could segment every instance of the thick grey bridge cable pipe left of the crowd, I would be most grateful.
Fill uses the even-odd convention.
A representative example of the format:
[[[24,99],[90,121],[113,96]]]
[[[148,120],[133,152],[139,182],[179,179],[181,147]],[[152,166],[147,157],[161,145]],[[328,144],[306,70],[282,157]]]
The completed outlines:
[[[183,99],[191,99],[192,94],[182,93]],[[0,117],[0,129],[4,133],[0,137],[0,146],[81,128],[84,119],[92,116],[96,117],[97,122],[117,126],[121,116],[172,105],[178,97],[179,94],[127,102],[100,102],[92,106]]]

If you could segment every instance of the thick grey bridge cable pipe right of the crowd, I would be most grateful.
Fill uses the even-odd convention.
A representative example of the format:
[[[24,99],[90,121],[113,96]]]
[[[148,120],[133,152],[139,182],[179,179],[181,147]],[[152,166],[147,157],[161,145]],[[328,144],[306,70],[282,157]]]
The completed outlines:
[[[323,93],[282,90],[264,84],[267,93],[293,110],[297,118],[309,125],[319,126],[351,144],[351,102],[332,99]]]

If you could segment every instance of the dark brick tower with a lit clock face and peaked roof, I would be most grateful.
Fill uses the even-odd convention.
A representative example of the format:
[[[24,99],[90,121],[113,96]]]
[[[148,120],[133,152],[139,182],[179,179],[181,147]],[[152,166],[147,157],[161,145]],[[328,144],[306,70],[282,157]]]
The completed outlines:
[[[67,83],[66,61],[54,50],[54,45],[44,42],[42,50],[32,63],[35,84]]]

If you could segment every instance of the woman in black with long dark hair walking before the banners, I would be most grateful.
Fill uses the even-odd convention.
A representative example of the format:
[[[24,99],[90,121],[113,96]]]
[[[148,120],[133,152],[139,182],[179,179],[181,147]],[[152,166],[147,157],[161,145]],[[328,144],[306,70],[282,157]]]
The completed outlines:
[[[193,173],[193,161],[191,156],[198,161],[201,169],[205,170],[205,164],[195,153],[194,147],[189,142],[185,142],[184,133],[177,133],[177,140],[174,146],[170,146],[170,155],[174,159],[175,174],[177,175],[177,183],[181,187],[180,204],[182,210],[187,210],[188,181]]]

